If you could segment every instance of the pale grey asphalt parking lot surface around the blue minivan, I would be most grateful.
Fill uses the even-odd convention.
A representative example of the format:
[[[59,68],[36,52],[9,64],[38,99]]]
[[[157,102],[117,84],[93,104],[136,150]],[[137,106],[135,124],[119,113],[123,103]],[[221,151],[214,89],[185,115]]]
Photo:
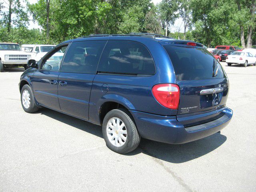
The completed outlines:
[[[256,66],[227,66],[224,130],[187,144],[142,139],[109,150],[100,126],[42,108],[24,112],[23,68],[0,73],[0,191],[256,191]]]

